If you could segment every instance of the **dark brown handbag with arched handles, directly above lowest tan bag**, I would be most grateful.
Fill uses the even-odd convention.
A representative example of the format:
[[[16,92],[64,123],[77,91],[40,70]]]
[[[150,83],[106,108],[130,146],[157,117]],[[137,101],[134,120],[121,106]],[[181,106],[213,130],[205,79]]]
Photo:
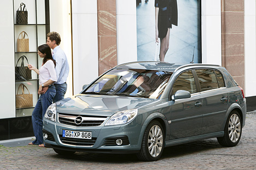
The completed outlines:
[[[28,80],[32,78],[31,70],[28,69],[27,66],[24,66],[24,58],[26,58],[27,60],[26,56],[21,56],[16,63],[15,80]],[[17,66],[20,59],[21,59],[21,65]],[[27,60],[27,64],[28,64],[28,60]]]

